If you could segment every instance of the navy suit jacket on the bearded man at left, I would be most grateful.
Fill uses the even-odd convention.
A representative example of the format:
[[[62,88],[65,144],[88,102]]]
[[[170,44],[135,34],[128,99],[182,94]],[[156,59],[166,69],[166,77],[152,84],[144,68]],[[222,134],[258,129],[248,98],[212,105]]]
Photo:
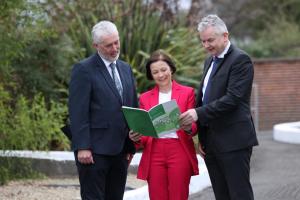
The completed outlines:
[[[131,67],[117,60],[123,85],[123,102],[101,57],[95,53],[75,64],[69,86],[72,150],[116,155],[134,153],[122,105],[137,107],[135,79]]]

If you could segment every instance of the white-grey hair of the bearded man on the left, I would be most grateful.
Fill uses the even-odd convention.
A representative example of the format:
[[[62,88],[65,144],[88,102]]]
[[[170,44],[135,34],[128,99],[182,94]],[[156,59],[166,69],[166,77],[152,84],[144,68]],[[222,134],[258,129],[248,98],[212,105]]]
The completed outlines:
[[[117,26],[110,21],[100,21],[98,22],[92,30],[93,43],[99,44],[102,42],[102,37],[119,33]]]

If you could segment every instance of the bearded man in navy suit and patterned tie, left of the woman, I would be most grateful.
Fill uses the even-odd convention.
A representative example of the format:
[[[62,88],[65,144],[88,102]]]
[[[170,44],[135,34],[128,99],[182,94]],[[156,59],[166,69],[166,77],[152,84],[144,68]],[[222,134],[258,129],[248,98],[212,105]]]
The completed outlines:
[[[72,149],[82,199],[122,200],[135,147],[121,107],[137,107],[135,80],[131,67],[118,59],[115,24],[97,23],[92,39],[97,52],[75,64],[71,75]]]

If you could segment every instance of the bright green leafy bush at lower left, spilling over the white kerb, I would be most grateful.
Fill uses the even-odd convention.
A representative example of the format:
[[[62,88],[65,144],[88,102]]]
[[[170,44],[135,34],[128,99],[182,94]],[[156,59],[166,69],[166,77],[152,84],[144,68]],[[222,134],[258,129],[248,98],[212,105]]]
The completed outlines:
[[[41,94],[28,100],[23,95],[13,98],[13,92],[0,83],[0,150],[69,149],[69,142],[60,132],[65,104],[46,101]],[[27,159],[0,157],[0,185],[9,180],[38,178]]]

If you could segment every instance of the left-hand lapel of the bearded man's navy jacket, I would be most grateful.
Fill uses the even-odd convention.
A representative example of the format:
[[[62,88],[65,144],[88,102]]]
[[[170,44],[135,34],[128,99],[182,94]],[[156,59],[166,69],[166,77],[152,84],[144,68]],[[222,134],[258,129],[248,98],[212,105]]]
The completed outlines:
[[[106,66],[105,66],[104,62],[102,61],[101,57],[97,53],[96,53],[95,56],[96,56],[96,60],[97,60],[97,66],[98,66],[98,69],[100,71],[100,75],[102,75],[102,77],[104,78],[107,85],[110,87],[110,89],[112,90],[114,95],[119,99],[120,103],[122,104],[122,99],[121,99],[121,97],[118,93],[118,90],[115,86],[115,83],[113,82],[109,72],[106,69]]]

